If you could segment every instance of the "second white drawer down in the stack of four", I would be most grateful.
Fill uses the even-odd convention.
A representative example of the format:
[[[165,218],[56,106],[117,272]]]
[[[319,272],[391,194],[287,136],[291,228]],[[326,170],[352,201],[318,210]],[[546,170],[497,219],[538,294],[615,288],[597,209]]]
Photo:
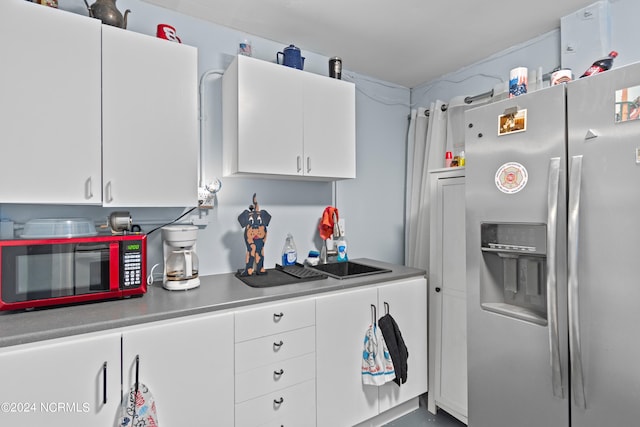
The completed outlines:
[[[236,373],[315,351],[315,326],[240,342],[236,344]]]

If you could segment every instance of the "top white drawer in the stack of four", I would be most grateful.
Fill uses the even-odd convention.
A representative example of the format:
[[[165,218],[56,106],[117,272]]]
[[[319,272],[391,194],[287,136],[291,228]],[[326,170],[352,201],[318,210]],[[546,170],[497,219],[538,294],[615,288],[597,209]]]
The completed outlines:
[[[236,342],[315,325],[313,299],[271,304],[236,313]]]

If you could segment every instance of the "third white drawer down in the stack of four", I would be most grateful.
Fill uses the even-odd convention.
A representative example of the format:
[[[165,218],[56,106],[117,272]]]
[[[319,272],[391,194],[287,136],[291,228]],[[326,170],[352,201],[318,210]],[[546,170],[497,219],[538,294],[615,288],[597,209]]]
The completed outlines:
[[[309,353],[236,374],[236,403],[299,384],[316,376],[316,354]]]

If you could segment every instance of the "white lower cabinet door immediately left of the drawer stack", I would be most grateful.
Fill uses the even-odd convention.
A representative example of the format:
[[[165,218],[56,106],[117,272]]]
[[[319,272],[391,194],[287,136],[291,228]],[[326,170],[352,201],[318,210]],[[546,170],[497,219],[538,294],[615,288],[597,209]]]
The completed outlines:
[[[138,378],[153,395],[159,425],[233,425],[233,313],[125,330],[125,393],[136,381],[137,356]]]

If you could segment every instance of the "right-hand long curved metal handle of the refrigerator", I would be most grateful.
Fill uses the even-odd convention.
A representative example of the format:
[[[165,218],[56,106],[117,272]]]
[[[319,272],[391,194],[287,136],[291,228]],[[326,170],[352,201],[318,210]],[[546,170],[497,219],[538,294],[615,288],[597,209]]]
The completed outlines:
[[[582,156],[571,157],[569,169],[569,222],[568,245],[568,302],[569,302],[569,361],[571,363],[571,390],[576,406],[585,409],[582,371],[582,346],[580,344],[580,310],[578,294],[578,231],[580,228],[580,186],[582,180]]]

